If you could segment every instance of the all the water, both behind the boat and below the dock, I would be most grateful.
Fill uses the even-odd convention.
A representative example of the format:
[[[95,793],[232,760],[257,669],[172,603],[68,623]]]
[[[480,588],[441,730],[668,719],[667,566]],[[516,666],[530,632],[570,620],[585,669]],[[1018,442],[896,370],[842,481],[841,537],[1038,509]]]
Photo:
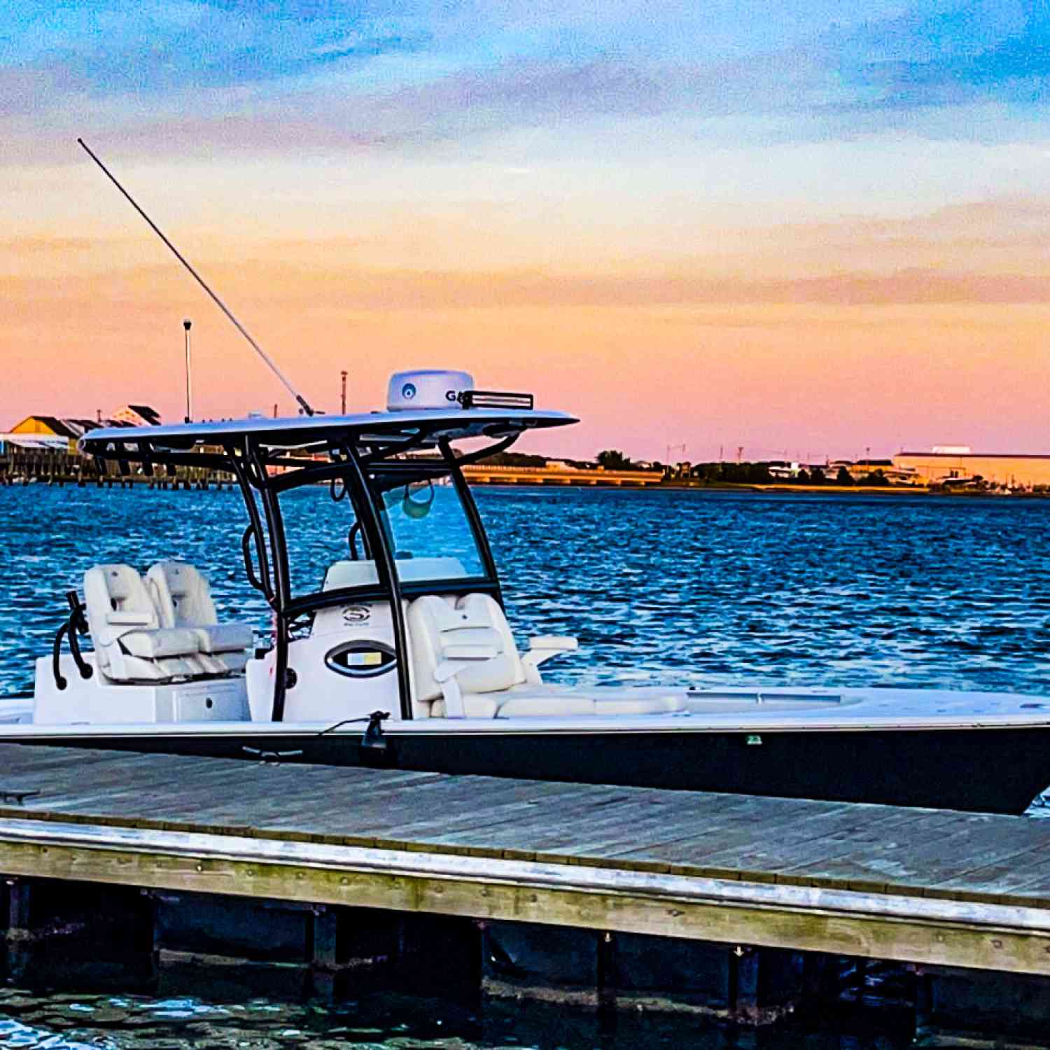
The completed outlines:
[[[316,492],[301,497],[300,512]],[[936,686],[1050,692],[1050,502],[702,491],[479,489],[519,637],[574,634],[569,680]],[[295,513],[295,511],[293,511]],[[160,559],[209,575],[260,631],[232,491],[0,489],[0,692],[32,687],[86,568]],[[301,553],[301,551],[300,551]],[[331,550],[310,548],[319,583]],[[550,668],[548,673],[547,669]],[[1050,778],[1048,778],[1050,779]],[[0,1045],[890,1050],[865,1021],[734,1032],[695,1020],[394,996],[279,1003],[0,991]]]

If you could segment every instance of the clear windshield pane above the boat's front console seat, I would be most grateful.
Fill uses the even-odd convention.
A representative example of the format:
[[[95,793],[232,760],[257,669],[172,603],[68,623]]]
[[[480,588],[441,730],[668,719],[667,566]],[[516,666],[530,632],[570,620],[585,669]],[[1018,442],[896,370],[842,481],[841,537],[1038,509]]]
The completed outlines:
[[[374,475],[370,481],[402,583],[485,575],[477,537],[447,472]]]

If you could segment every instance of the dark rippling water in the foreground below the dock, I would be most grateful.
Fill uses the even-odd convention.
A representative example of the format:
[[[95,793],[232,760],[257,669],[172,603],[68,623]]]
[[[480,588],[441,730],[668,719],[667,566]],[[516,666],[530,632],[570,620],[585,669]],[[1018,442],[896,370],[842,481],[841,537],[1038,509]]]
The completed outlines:
[[[903,1032],[789,1024],[734,1029],[695,1017],[592,1012],[548,1005],[370,994],[343,1003],[195,996],[33,994],[0,990],[0,1045],[26,1050],[354,1047],[357,1050],[903,1050]]]

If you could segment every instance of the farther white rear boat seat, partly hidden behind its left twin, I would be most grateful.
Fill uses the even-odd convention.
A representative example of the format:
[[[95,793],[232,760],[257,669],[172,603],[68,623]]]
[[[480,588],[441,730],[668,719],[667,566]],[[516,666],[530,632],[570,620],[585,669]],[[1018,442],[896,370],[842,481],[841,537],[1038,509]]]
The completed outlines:
[[[255,644],[249,624],[220,624],[207,578],[188,562],[158,562],[146,580],[164,627],[191,631],[218,670],[240,671]]]

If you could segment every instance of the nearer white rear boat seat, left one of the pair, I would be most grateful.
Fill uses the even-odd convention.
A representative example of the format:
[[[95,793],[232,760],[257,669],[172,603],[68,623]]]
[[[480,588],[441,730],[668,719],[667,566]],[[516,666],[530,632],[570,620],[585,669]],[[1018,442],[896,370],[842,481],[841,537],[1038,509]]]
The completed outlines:
[[[99,669],[112,681],[165,681],[208,673],[192,631],[165,628],[130,565],[84,573],[84,605]]]

